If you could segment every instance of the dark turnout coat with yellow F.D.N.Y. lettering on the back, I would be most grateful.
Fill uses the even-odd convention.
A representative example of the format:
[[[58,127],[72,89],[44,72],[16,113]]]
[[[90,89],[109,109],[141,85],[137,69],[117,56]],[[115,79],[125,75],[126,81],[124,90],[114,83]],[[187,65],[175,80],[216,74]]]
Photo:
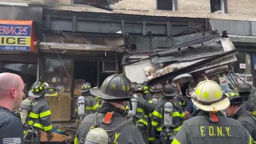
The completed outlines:
[[[218,120],[211,122],[209,113],[201,110],[182,124],[172,144],[253,143],[249,132],[236,119],[218,114]]]

